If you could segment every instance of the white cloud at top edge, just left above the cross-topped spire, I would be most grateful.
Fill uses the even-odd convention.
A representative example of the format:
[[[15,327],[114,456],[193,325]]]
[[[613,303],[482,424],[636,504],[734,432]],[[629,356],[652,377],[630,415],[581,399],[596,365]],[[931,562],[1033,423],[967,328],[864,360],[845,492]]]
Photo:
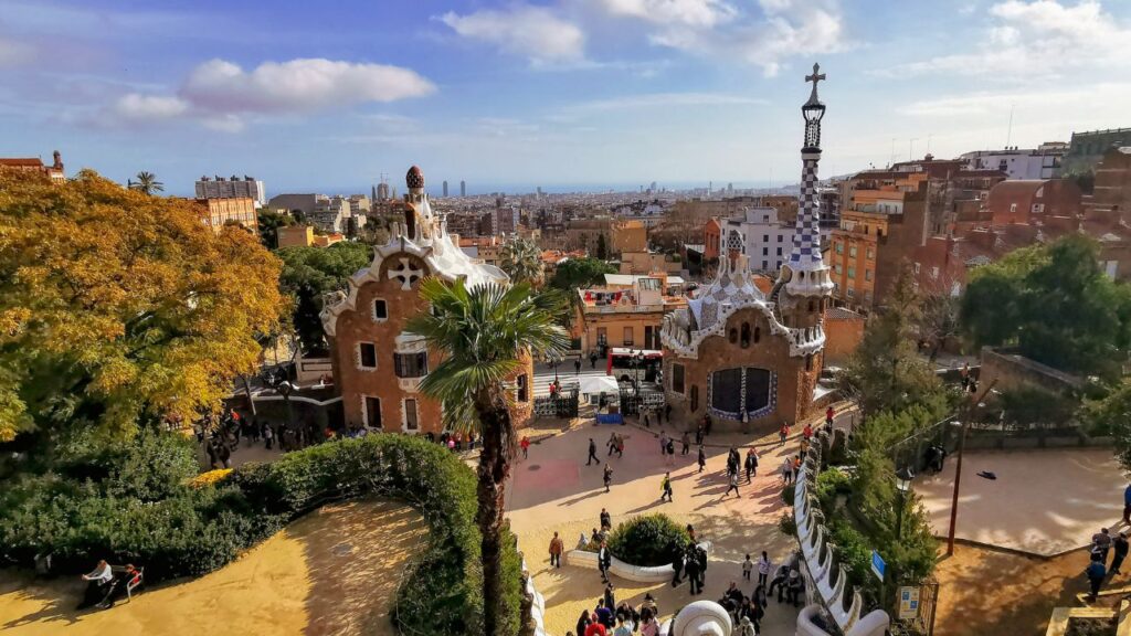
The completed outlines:
[[[838,0],[759,0],[761,15],[722,0],[599,0],[611,15],[653,26],[659,46],[739,59],[777,75],[788,59],[848,46]]]

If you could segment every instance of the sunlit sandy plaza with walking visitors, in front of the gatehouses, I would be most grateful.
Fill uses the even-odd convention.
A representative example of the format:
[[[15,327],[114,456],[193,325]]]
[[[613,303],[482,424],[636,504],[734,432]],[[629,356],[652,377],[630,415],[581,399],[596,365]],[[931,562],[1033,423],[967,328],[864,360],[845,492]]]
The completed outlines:
[[[624,456],[607,457],[604,442],[615,430],[628,436]],[[658,433],[655,426],[653,430]],[[670,431],[671,432],[671,431]],[[586,466],[588,438],[597,442],[598,456],[612,469],[612,491],[605,493],[601,465]],[[713,436],[713,439],[719,439]],[[796,442],[786,449],[796,452]],[[676,442],[676,453],[680,445]],[[726,449],[707,448],[707,470],[698,473],[696,452],[676,455],[668,465],[659,454],[659,442],[649,432],[633,427],[586,426],[553,437],[530,447],[530,456],[519,463],[508,497],[508,517],[519,538],[519,548],[527,558],[534,584],[546,600],[546,628],[555,636],[573,630],[581,610],[592,610],[603,591],[596,570],[563,566],[549,567],[547,547],[554,532],[575,547],[580,533],[588,534],[598,525],[601,509],[607,508],[616,525],[625,517],[653,512],[668,514],[681,523],[692,523],[703,539],[714,543],[707,568],[706,592],[692,598],[687,583],[677,588],[668,584],[647,585],[613,577],[616,600],[639,604],[650,592],[656,598],[663,618],[670,618],[685,603],[696,599],[717,600],[731,581],[740,582],[750,594],[753,583],[743,583],[741,562],[745,553],[757,559],[767,550],[775,560],[785,557],[793,542],[777,530],[777,519],[785,509],[780,481],[776,473],[784,450],[763,450],[759,476],[753,484],[741,484],[741,497],[726,491]],[[603,464],[602,464],[603,465]],[[675,500],[659,501],[659,483],[665,471],[672,472]],[[757,578],[757,575],[756,575]],[[792,634],[796,611],[771,601],[763,621],[765,633]]]

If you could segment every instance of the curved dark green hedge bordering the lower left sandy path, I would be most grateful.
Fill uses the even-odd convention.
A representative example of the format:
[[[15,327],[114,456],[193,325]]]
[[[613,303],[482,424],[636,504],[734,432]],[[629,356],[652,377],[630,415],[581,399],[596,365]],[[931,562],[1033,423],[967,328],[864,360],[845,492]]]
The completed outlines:
[[[128,482],[128,480],[124,480]],[[0,555],[31,566],[52,555],[66,571],[105,558],[146,567],[158,581],[217,569],[284,524],[340,498],[405,501],[429,524],[428,543],[400,574],[394,620],[404,634],[481,634],[480,532],[474,472],[424,439],[399,435],[329,441],[269,464],[247,464],[226,479],[188,480],[158,500],[123,491],[113,476],[77,481],[25,476],[0,493]],[[508,592],[502,634],[517,634],[521,559],[504,530]]]

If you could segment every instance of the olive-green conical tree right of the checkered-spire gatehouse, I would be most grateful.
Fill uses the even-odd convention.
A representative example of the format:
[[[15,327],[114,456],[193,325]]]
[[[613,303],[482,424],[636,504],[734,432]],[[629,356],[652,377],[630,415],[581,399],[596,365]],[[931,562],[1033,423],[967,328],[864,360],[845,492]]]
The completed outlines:
[[[904,269],[888,303],[869,318],[863,341],[839,376],[841,392],[865,418],[899,412],[946,394],[942,381],[918,355],[915,326],[921,320],[920,300]]]

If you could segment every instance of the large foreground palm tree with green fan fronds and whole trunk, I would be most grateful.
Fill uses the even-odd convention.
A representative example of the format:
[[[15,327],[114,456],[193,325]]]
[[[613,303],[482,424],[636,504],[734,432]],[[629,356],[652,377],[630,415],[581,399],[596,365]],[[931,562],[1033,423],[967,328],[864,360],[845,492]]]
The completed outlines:
[[[556,291],[533,294],[526,282],[468,289],[461,278],[435,277],[421,283],[421,298],[432,310],[411,318],[405,330],[444,355],[421,392],[443,405],[449,427],[477,429],[483,440],[475,522],[482,533],[484,634],[494,636],[503,621],[502,515],[516,446],[504,383],[521,370],[525,355],[566,350],[569,338],[556,324],[564,302]]]

